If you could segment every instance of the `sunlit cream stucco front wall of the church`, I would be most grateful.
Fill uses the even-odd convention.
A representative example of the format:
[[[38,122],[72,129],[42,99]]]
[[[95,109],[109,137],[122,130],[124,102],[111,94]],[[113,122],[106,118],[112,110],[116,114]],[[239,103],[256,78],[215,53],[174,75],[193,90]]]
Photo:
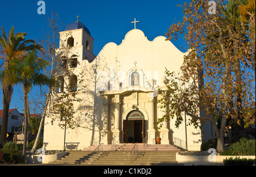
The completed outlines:
[[[81,37],[80,29],[72,31],[72,35],[75,39],[81,41],[81,43],[84,41],[82,39],[79,40],[79,37]],[[77,45],[80,45],[80,43]],[[83,47],[75,46],[72,49],[74,50],[73,53],[76,53],[75,50],[77,50],[79,56],[84,57],[84,53],[80,48]],[[183,64],[185,54],[187,53],[180,52],[164,36],[158,36],[153,41],[149,41],[141,30],[133,29],[127,32],[120,45],[115,43],[106,44],[92,62],[80,58],[80,65],[72,70],[78,79],[81,78],[80,74],[84,71],[83,81],[80,84],[83,86],[86,85],[86,89],[79,94],[82,102],[75,104],[75,108],[77,109],[75,117],[79,127],[73,130],[67,130],[66,142],[79,142],[78,149],[83,149],[91,144],[90,141],[93,138],[97,140],[98,137],[98,140],[101,140],[101,131],[104,127],[104,117],[106,115],[109,117],[108,129],[111,133],[115,127],[114,95],[119,96],[118,99],[120,99],[119,101],[121,103],[118,124],[121,133],[123,126],[122,120],[126,119],[125,116],[127,113],[133,110],[131,107],[134,104],[146,115],[145,117],[147,118],[145,119],[149,120],[150,103],[148,101],[152,99],[152,88],[148,87],[148,83],[153,85],[152,79],[154,78],[156,81],[154,83],[156,90],[159,87],[164,88],[166,86],[163,82],[165,68],[170,71],[179,71],[180,66]],[[140,74],[140,85],[139,87],[130,87],[130,74],[135,70]],[[119,79],[119,81],[117,79],[118,77],[115,77],[117,73],[122,74],[122,79]],[[122,82],[122,87],[119,85],[120,82]],[[102,92],[100,93],[99,91]],[[106,97],[100,95],[102,93],[108,96],[108,100],[106,100]],[[157,96],[157,94],[154,96]],[[109,106],[108,113],[106,113],[106,106]],[[154,121],[160,118],[161,114],[160,109],[155,104]],[[44,143],[47,144],[46,149],[63,149],[64,130],[57,126],[57,122],[51,125],[50,121],[51,118],[48,117],[44,127]],[[182,141],[186,140],[184,123],[177,129],[174,127],[174,120],[171,120],[167,128],[172,129],[174,133],[169,133],[168,138],[170,142],[163,141],[164,143],[172,143],[172,137],[179,138]],[[161,136],[161,130],[160,132],[156,132],[155,136]],[[200,150],[201,130],[187,126],[187,140],[188,150]]]

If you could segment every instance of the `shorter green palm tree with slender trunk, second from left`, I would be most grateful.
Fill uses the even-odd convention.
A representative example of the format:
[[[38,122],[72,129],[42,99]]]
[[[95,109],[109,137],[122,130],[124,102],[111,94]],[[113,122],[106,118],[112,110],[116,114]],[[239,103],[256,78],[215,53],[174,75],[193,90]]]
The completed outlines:
[[[46,75],[42,74],[42,70],[46,70],[48,62],[42,58],[36,56],[36,52],[33,50],[29,52],[23,60],[13,60],[10,62],[10,67],[6,70],[5,74],[11,74],[8,78],[10,83],[14,85],[21,83],[24,93],[24,142],[27,141],[27,129],[28,129],[28,93],[32,86],[51,85],[52,80]],[[23,155],[26,153],[26,143],[23,144]]]

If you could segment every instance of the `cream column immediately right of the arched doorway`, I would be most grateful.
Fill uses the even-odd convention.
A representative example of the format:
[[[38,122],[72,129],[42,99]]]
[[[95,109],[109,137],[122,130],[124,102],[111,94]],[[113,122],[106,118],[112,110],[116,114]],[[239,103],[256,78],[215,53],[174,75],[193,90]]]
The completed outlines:
[[[149,102],[149,117],[148,117],[148,130],[147,130],[147,144],[155,144],[155,127],[154,127],[154,120],[155,120],[155,101],[154,97],[148,100]]]

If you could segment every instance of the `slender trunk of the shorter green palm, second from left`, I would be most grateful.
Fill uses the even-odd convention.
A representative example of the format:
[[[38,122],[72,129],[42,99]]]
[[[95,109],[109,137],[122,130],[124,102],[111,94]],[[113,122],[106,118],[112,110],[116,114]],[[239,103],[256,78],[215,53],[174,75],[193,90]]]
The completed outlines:
[[[28,89],[26,86],[23,88],[24,92],[24,142],[23,142],[23,153],[22,155],[26,155],[26,150],[27,150],[27,120],[28,120],[28,109],[27,109],[27,98],[28,98]]]

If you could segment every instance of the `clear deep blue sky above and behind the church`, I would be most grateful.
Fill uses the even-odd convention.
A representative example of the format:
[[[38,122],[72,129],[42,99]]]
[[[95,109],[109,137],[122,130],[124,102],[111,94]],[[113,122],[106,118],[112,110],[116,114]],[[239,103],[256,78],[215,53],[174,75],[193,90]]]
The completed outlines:
[[[68,23],[75,22],[79,15],[82,22],[94,38],[94,54],[100,52],[105,44],[114,42],[121,44],[126,33],[134,29],[131,22],[139,20],[136,28],[141,29],[152,41],[157,36],[164,36],[168,27],[183,18],[182,10],[177,7],[184,1],[158,0],[44,0],[46,3],[46,15],[39,15],[38,0],[13,0],[2,1],[0,10],[0,26],[3,26],[6,33],[14,26],[14,32],[27,32],[26,39],[43,39],[43,31],[47,31],[46,19],[54,11],[59,14],[63,22],[63,30]],[[176,18],[176,20],[175,20]],[[0,33],[2,35],[2,32]],[[185,52],[185,41],[180,39],[172,41],[174,45],[182,46],[180,49]],[[2,61],[0,61],[1,63]],[[30,98],[38,92],[38,87],[32,89]],[[16,108],[23,112],[23,98],[21,86],[14,87],[13,99],[10,108]],[[2,89],[0,90],[0,109],[2,109]]]

